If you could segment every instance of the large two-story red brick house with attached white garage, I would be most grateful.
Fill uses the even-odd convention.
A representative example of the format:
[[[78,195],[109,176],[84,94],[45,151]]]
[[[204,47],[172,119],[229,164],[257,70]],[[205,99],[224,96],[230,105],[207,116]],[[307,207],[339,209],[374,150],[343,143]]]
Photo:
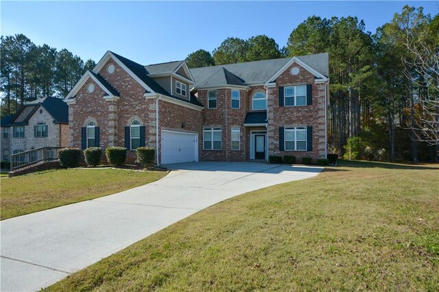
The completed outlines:
[[[328,53],[189,69],[107,51],[65,101],[72,147],[158,149],[158,164],[327,155]]]

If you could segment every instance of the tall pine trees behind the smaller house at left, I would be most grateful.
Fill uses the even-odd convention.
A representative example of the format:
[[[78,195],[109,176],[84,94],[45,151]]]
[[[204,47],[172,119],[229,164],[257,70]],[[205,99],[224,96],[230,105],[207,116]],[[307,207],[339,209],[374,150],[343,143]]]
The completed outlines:
[[[13,114],[25,101],[65,97],[95,61],[84,62],[67,49],[35,45],[23,34],[1,36],[1,117]]]

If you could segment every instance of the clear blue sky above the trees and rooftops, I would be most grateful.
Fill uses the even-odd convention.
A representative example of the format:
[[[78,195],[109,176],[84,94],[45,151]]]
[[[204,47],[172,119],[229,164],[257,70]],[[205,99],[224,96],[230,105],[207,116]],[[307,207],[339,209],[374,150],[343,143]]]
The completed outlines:
[[[96,62],[109,49],[141,64],[212,51],[228,36],[266,34],[280,47],[313,14],[357,16],[366,29],[390,21],[403,5],[438,14],[438,1],[1,1],[1,34],[25,34],[37,45],[67,48]]]

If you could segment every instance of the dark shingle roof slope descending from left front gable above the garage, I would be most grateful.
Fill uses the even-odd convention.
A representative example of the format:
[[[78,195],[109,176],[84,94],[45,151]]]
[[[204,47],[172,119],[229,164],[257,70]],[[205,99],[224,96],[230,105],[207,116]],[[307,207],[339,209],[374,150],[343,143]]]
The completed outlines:
[[[132,71],[132,73],[134,73],[134,75],[139,77],[140,80],[142,80],[147,86],[149,86],[152,90],[154,90],[155,93],[160,93],[162,95],[167,95],[169,97],[173,97],[173,98],[181,100],[181,101],[186,101],[189,104],[193,104],[195,106],[202,106],[202,104],[200,104],[200,102],[198,102],[198,100],[192,95],[191,95],[190,101],[188,101],[187,99],[182,99],[180,97],[176,97],[174,95],[171,95],[170,93],[167,92],[167,90],[165,90],[162,86],[160,86],[154,79],[147,76],[147,71],[145,69],[145,66],[142,66],[141,64],[133,62],[132,60],[129,60],[125,57],[122,57],[122,56],[118,55],[117,53],[113,53],[113,52],[111,52],[111,53],[116,58],[118,58],[125,66],[127,66],[128,69],[130,69],[130,71]]]

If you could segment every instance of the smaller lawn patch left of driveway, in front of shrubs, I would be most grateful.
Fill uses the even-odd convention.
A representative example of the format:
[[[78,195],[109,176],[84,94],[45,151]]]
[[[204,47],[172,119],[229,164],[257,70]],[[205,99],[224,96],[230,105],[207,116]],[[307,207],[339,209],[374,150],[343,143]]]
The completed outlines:
[[[95,199],[163,178],[166,172],[61,169],[1,180],[0,219]]]

